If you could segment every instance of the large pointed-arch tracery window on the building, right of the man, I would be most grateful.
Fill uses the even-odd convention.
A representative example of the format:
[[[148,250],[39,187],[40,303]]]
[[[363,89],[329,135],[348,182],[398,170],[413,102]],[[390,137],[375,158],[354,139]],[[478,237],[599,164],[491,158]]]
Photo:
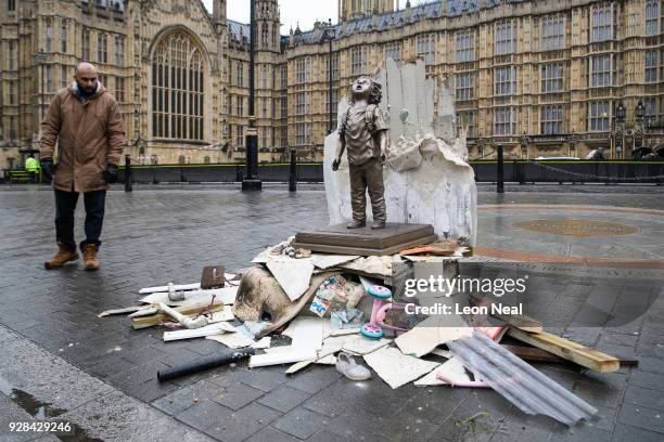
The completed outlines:
[[[176,31],[159,41],[152,58],[152,135],[203,140],[203,54]]]

